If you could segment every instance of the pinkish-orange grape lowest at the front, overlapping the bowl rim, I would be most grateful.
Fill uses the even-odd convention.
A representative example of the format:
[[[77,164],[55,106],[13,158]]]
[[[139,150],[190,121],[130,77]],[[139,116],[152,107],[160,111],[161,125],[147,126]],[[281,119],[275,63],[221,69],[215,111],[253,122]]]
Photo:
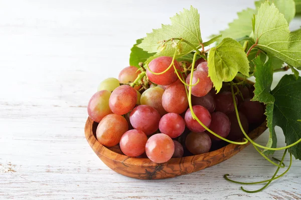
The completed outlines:
[[[175,152],[173,139],[164,133],[150,136],[145,145],[147,157],[156,163],[167,162]]]

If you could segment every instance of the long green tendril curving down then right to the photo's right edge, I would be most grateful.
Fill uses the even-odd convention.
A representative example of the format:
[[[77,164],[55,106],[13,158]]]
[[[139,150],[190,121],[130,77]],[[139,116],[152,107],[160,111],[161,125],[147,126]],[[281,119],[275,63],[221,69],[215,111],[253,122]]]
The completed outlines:
[[[296,142],[292,143],[292,144],[289,144],[287,146],[283,146],[283,147],[280,147],[280,148],[272,148],[272,147],[266,147],[266,146],[262,146],[256,142],[254,142],[248,135],[247,133],[244,131],[242,125],[241,125],[241,122],[240,122],[240,118],[239,118],[239,114],[238,114],[238,109],[237,109],[237,105],[236,105],[236,100],[235,100],[235,95],[234,95],[234,90],[233,90],[233,82],[231,81],[230,82],[230,85],[231,85],[231,92],[232,92],[232,98],[233,98],[233,102],[234,102],[234,108],[235,108],[235,113],[236,113],[236,117],[237,117],[237,120],[238,120],[238,124],[239,124],[239,127],[242,131],[242,133],[245,135],[245,137],[255,146],[257,147],[260,147],[260,148],[263,148],[263,149],[266,149],[266,150],[282,150],[282,149],[286,149],[286,148],[289,148],[291,146],[294,146],[296,145],[297,143],[299,143],[301,141],[301,138],[299,140],[297,140]]]

